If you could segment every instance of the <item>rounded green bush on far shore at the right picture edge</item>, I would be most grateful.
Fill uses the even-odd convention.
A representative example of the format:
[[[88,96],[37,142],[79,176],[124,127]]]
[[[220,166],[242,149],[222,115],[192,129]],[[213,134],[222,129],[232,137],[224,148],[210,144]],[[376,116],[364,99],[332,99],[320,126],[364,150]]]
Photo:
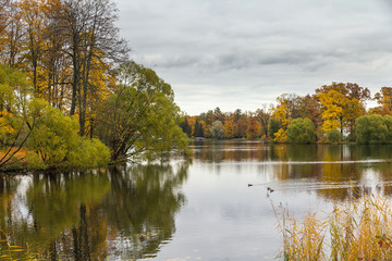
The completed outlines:
[[[355,121],[355,129],[358,144],[384,144],[391,137],[387,124],[390,117],[379,114],[360,116]]]

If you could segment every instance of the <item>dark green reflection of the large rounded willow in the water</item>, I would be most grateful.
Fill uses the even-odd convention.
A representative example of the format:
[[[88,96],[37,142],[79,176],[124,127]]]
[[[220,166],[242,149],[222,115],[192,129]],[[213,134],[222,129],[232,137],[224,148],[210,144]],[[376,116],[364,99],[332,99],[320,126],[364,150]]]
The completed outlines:
[[[172,237],[174,215],[185,202],[180,189],[187,170],[187,164],[180,165],[176,172],[171,165],[136,165],[111,172],[112,190],[103,204],[112,229],[119,232],[112,238],[113,247],[122,245],[115,256],[154,257],[159,246]]]

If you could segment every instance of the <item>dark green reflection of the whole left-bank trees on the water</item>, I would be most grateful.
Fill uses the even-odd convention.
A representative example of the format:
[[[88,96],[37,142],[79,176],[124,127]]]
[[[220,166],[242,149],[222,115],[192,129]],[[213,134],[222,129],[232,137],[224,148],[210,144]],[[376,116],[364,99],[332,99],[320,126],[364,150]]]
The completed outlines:
[[[1,229],[51,260],[154,257],[175,232],[186,178],[186,164],[3,176]]]

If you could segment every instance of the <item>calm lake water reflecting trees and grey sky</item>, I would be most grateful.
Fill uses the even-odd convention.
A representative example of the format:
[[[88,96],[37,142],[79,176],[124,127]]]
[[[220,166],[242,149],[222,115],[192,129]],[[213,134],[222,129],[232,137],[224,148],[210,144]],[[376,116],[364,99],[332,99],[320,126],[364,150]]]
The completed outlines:
[[[192,163],[2,176],[0,228],[52,260],[273,260],[271,203],[295,216],[328,210],[353,197],[351,181],[392,194],[392,146],[192,148]]]

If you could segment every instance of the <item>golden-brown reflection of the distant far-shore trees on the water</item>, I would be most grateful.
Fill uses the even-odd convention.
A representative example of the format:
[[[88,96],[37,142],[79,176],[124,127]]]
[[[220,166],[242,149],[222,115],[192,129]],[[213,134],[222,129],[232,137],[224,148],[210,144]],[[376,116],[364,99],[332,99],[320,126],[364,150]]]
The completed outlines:
[[[256,141],[195,142],[196,159],[232,165],[238,172],[250,165],[268,174],[281,190],[315,190],[329,200],[346,200],[359,191],[391,195],[392,146],[389,145],[266,145]],[[265,184],[256,184],[265,185]]]

